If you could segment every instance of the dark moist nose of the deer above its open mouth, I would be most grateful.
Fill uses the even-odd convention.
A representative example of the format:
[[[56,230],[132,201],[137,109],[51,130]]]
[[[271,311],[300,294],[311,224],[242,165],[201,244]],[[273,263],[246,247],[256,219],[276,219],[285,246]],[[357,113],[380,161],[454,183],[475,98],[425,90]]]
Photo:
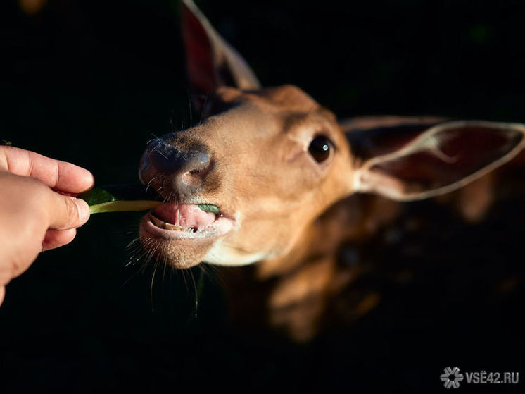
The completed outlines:
[[[142,183],[151,183],[158,190],[158,186],[162,186],[163,195],[173,193],[188,197],[203,188],[210,168],[210,154],[205,149],[186,151],[172,144],[154,141],[142,156],[139,178]],[[156,185],[156,179],[162,180],[162,184]]]

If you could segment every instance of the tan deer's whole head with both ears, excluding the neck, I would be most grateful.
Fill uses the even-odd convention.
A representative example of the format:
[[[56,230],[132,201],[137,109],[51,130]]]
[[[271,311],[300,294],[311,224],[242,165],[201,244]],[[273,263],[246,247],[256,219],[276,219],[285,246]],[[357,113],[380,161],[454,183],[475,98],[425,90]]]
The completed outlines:
[[[524,147],[518,123],[421,118],[349,127],[298,87],[260,87],[191,0],[182,1],[182,23],[203,121],[151,142],[139,166],[141,182],[165,199],[142,218],[141,242],[176,268],[281,259],[353,193],[441,195]]]

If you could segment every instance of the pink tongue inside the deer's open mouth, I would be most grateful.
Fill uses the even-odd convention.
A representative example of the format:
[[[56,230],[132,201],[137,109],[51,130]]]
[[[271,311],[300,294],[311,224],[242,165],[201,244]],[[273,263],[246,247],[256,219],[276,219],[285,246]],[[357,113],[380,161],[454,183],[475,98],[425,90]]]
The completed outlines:
[[[215,214],[205,212],[195,204],[160,204],[155,215],[166,223],[182,228],[202,228],[215,221]]]

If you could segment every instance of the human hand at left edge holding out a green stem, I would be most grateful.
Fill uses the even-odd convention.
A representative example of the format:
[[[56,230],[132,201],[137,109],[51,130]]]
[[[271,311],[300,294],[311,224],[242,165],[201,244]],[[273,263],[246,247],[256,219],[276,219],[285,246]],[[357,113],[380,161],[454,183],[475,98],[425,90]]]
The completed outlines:
[[[68,244],[89,218],[72,195],[91,188],[84,168],[40,154],[0,146],[0,304],[5,286],[38,254]]]

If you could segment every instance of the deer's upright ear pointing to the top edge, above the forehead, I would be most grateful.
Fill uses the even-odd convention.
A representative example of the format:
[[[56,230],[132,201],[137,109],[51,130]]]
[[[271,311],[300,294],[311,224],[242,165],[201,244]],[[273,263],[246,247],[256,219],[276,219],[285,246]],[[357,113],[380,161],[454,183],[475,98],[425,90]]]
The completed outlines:
[[[189,82],[195,94],[205,96],[224,85],[260,88],[246,61],[220,37],[192,0],[181,1],[181,13]]]

